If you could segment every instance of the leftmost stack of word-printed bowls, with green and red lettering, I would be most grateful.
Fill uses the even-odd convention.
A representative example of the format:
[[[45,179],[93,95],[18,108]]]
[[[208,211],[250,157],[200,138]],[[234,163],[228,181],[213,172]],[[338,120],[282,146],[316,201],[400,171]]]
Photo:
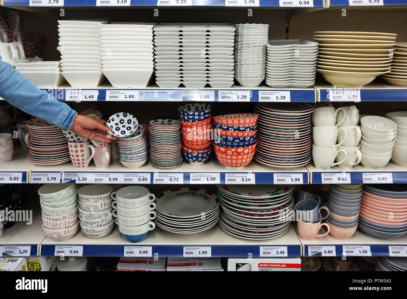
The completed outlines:
[[[75,184],[45,184],[38,189],[44,234],[55,240],[78,231],[78,196]]]

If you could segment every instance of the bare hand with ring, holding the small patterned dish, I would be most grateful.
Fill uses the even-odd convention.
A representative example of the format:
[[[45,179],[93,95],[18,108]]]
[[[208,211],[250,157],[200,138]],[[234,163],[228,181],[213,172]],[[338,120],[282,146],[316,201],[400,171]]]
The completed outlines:
[[[111,142],[112,140],[116,140],[116,137],[112,136],[111,134],[107,134],[110,129],[106,127],[105,120],[100,120],[90,116],[77,114],[69,130],[82,138],[90,140],[100,142]]]

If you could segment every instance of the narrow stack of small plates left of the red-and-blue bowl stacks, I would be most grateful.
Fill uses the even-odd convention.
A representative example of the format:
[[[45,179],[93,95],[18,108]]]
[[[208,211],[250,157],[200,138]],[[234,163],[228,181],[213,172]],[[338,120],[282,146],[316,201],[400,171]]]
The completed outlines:
[[[160,168],[182,165],[181,122],[155,119],[149,122],[151,164]]]

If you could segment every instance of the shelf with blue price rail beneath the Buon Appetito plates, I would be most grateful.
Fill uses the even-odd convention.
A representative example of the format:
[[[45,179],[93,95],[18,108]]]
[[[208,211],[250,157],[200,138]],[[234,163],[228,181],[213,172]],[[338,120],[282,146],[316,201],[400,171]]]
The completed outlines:
[[[212,257],[259,257],[261,247],[280,248],[289,257],[301,256],[301,243],[293,227],[281,237],[270,240],[245,240],[225,233],[219,226],[198,234],[173,234],[156,228],[139,243],[129,243],[118,228],[103,238],[88,238],[81,231],[68,240],[45,238],[41,244],[42,256],[55,255],[56,246],[80,246],[83,256],[123,256],[125,246],[141,247],[147,256],[184,256],[184,247],[211,247]],[[151,248],[149,248],[151,247]],[[137,256],[137,252],[133,256]],[[208,248],[206,249],[208,250]],[[146,256],[143,255],[143,256]],[[69,256],[69,254],[67,254]],[[140,255],[138,255],[140,256]]]

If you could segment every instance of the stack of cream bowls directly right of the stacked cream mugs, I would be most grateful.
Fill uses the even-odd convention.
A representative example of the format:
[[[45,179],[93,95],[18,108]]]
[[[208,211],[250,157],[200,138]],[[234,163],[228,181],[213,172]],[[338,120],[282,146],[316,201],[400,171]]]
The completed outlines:
[[[366,168],[380,169],[392,158],[397,124],[388,118],[374,115],[363,116],[360,123],[361,164]]]

